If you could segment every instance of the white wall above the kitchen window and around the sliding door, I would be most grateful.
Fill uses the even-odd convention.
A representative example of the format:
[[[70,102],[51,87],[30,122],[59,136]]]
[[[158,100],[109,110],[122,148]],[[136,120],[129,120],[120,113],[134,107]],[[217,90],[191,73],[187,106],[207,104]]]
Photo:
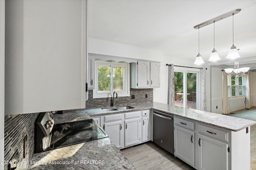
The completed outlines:
[[[110,41],[103,41],[103,40],[92,39],[92,38],[89,38],[88,45],[89,45],[89,53],[161,62],[161,65],[160,65],[161,67],[160,86],[161,87],[154,88],[153,90],[154,102],[161,102],[164,104],[167,104],[168,102],[168,66],[166,66],[166,64],[197,67],[196,65],[194,65],[194,59],[196,55],[191,60],[183,59],[181,56],[170,57],[170,56],[163,55],[162,51],[145,49],[141,47],[124,45],[120,43],[114,43]],[[209,82],[210,81],[208,81],[208,83]],[[210,94],[209,86],[207,86],[206,91],[207,91],[207,94]],[[209,98],[207,98],[207,100],[209,100]],[[209,106],[206,106],[206,107],[209,108]]]

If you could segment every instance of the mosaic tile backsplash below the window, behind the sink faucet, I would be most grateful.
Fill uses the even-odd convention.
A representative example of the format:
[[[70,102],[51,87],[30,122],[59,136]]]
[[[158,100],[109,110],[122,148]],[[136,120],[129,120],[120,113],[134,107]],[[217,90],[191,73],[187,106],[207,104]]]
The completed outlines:
[[[89,90],[88,101],[86,101],[86,109],[100,108],[112,106],[112,98],[93,98],[92,90]],[[134,95],[134,99],[132,98]],[[146,98],[147,97],[147,98]],[[130,96],[118,97],[116,106],[132,105],[138,103],[153,102],[153,89],[130,89]]]

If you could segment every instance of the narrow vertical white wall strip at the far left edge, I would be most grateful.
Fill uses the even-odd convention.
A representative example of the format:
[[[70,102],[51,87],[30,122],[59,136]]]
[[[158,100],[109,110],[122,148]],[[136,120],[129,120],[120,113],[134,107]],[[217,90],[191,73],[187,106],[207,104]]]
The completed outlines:
[[[4,36],[5,0],[0,0],[0,161],[4,160]],[[4,169],[4,164],[0,164]]]

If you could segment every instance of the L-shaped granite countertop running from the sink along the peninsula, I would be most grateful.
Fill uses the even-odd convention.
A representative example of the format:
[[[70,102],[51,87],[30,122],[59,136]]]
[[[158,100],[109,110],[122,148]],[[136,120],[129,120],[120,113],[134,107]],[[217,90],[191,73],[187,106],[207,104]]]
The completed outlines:
[[[68,121],[78,121],[82,119],[90,119],[92,116],[101,116],[107,114],[124,113],[129,111],[138,111],[145,109],[156,109],[164,111],[172,115],[191,119],[208,125],[224,128],[230,131],[240,131],[246,127],[256,124],[256,121],[242,119],[238,117],[232,117],[228,115],[210,113],[207,111],[200,111],[196,109],[184,108],[179,106],[170,106],[168,104],[162,104],[158,102],[134,104],[134,109],[117,110],[117,111],[103,111],[101,108],[95,109],[80,109],[71,110],[65,114],[54,114],[55,123],[63,123]],[[68,114],[68,116],[66,116]]]

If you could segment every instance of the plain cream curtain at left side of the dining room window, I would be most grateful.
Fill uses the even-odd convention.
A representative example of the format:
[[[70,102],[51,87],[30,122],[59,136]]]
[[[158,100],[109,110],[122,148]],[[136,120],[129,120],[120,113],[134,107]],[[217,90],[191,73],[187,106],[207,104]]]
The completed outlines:
[[[222,114],[229,114],[228,74],[224,71],[222,71]]]

